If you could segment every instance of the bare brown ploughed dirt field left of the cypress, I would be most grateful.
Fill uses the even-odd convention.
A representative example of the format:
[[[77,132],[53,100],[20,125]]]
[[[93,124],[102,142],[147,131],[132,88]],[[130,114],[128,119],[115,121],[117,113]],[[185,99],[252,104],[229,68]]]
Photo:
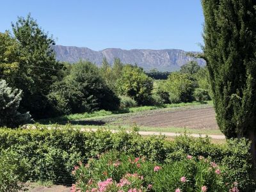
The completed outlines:
[[[122,124],[134,123],[146,127],[218,129],[213,108],[162,111],[162,113],[131,116],[122,122]]]

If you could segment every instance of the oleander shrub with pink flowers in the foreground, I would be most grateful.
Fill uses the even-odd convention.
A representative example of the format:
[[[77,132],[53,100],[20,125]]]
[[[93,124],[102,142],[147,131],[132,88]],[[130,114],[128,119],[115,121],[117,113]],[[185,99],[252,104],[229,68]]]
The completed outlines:
[[[116,162],[118,165],[116,166]],[[138,167],[137,165],[141,166]],[[159,164],[145,157],[134,157],[116,151],[90,159],[74,167],[75,191],[143,192],[143,191],[232,191],[237,182],[227,184],[225,172],[204,157],[184,158],[174,163]],[[238,191],[237,191],[238,192]]]

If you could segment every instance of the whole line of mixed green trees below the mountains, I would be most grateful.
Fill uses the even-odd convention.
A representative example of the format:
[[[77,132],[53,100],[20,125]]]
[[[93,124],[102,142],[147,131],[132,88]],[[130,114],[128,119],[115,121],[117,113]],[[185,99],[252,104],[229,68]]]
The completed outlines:
[[[0,33],[0,43],[0,126],[15,127],[31,116],[209,99],[207,71],[195,61],[172,74],[152,71],[154,79],[167,78],[155,83],[143,68],[118,58],[111,64],[104,58],[101,67],[56,61],[53,38],[30,15],[19,17],[12,33]]]

